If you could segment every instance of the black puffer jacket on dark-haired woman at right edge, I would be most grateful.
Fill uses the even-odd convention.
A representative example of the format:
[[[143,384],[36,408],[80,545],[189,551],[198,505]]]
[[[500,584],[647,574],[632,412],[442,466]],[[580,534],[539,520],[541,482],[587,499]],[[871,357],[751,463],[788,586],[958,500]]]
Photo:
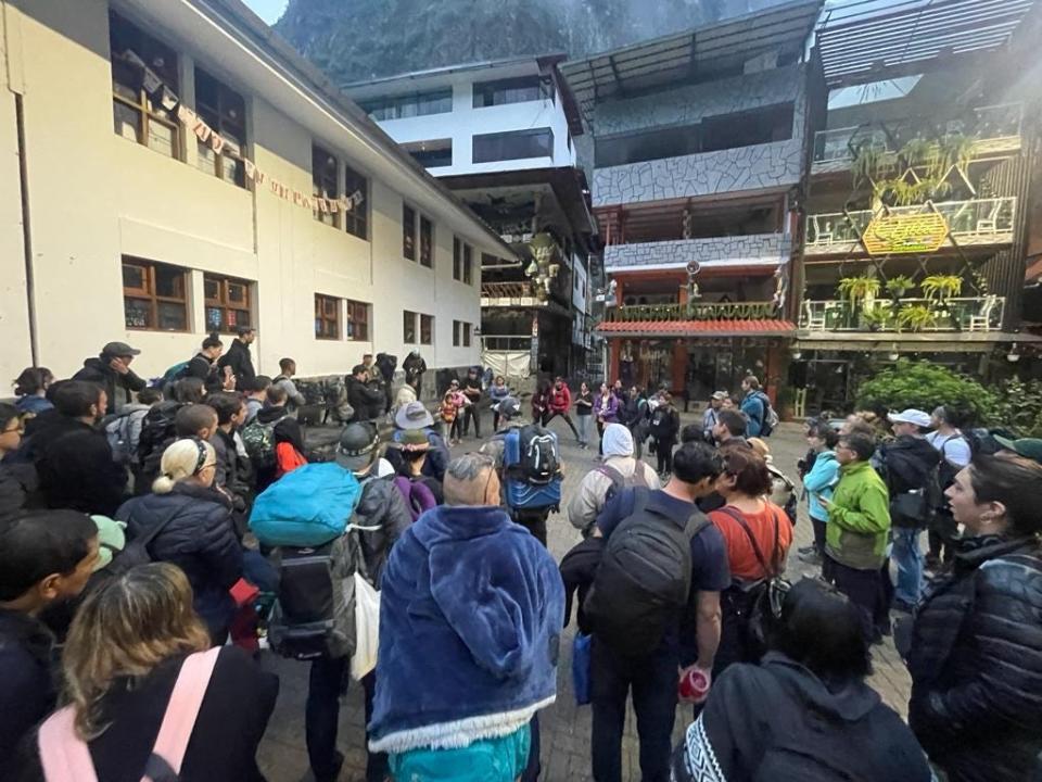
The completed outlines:
[[[1019,782],[1042,751],[1042,553],[962,541],[915,619],[908,723],[951,782]]]

